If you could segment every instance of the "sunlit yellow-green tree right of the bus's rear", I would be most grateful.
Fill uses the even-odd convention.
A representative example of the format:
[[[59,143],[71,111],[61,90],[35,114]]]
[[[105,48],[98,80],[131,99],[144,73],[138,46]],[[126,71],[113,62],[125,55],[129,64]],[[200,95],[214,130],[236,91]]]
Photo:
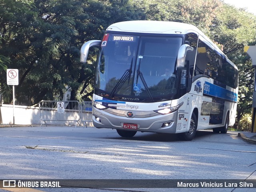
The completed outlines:
[[[241,118],[248,113],[248,108],[252,105],[254,69],[250,57],[244,52],[244,46],[255,45],[256,16],[246,10],[223,4],[223,11],[218,13],[216,21],[217,27],[211,26],[214,40],[239,71],[239,98],[234,125],[234,128],[239,129]]]

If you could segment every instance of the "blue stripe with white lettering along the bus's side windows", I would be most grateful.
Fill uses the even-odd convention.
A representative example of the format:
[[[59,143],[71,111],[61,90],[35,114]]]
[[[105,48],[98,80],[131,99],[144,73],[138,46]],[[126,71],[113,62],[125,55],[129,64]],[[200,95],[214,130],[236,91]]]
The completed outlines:
[[[237,102],[238,97],[237,93],[228,91],[227,89],[224,89],[206,81],[204,82],[204,94],[225,99],[231,102]]]

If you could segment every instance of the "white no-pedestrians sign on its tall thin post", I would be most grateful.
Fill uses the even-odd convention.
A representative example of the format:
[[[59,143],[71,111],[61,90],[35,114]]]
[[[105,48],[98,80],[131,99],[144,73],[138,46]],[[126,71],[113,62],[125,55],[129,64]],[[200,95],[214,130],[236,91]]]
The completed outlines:
[[[7,69],[6,71],[6,79],[7,79],[7,85],[12,85],[12,103],[13,103],[13,125],[15,124],[15,113],[14,113],[14,107],[15,107],[15,94],[14,94],[14,85],[19,84],[19,70],[18,69]]]

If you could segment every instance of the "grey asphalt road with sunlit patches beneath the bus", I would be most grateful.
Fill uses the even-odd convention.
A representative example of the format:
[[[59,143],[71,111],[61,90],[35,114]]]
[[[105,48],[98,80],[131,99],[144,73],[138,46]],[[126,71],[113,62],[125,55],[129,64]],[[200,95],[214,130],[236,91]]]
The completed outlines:
[[[256,179],[256,145],[243,141],[237,132],[198,131],[193,141],[179,141],[174,134],[156,133],[125,139],[116,130],[94,127],[8,127],[0,128],[0,148],[0,179]],[[256,188],[38,190],[255,192]],[[19,192],[23,191],[29,190]]]

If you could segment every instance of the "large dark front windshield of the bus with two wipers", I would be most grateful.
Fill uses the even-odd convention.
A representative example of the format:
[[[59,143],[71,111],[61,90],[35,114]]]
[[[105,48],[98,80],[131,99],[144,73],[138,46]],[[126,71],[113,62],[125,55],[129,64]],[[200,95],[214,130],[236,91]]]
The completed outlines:
[[[170,100],[178,91],[176,58],[181,44],[181,37],[105,34],[96,67],[96,94],[140,102]]]

